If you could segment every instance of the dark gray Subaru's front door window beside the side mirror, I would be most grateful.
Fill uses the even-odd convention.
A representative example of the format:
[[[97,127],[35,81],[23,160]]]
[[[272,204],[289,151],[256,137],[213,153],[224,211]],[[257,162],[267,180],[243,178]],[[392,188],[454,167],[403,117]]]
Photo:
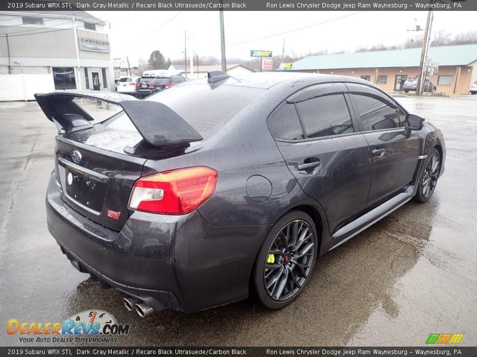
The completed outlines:
[[[370,95],[350,94],[350,96],[361,117],[363,131],[400,127],[396,108]]]

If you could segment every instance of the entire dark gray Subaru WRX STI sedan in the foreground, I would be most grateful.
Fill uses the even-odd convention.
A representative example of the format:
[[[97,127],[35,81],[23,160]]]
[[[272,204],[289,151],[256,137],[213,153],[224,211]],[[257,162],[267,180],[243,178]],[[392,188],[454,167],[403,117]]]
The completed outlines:
[[[92,125],[77,97],[123,111]],[[283,307],[319,255],[427,201],[444,172],[441,132],[351,77],[211,72],[146,100],[36,98],[59,128],[49,230],[142,316]]]

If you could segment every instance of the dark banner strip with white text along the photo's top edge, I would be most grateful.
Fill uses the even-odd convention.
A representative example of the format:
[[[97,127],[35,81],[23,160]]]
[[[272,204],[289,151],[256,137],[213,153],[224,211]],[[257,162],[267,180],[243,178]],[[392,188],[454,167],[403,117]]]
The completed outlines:
[[[1,1],[1,11],[107,10],[107,11],[472,11],[476,0],[76,0]]]

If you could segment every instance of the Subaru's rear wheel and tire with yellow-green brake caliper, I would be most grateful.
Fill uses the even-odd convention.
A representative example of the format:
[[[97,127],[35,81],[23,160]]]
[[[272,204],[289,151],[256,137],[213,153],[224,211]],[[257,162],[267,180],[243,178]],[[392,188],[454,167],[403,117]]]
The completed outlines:
[[[258,252],[251,279],[255,297],[270,309],[289,305],[305,288],[317,253],[318,234],[312,218],[302,211],[285,214]]]

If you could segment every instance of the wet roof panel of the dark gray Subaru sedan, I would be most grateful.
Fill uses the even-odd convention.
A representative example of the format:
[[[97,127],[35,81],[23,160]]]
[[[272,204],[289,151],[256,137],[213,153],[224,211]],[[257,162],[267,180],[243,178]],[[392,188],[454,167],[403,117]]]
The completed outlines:
[[[353,82],[361,84],[370,84],[369,81],[364,79],[339,76],[332,74],[315,74],[315,73],[302,73],[302,72],[262,72],[262,73],[249,73],[238,76],[231,76],[225,81],[219,81],[216,83],[210,83],[211,85],[234,85],[243,87],[254,87],[262,89],[271,89],[274,86],[295,86],[295,84],[302,82],[313,83],[327,83],[327,82]],[[189,84],[204,84],[207,83],[207,79],[195,79],[188,82]]]

